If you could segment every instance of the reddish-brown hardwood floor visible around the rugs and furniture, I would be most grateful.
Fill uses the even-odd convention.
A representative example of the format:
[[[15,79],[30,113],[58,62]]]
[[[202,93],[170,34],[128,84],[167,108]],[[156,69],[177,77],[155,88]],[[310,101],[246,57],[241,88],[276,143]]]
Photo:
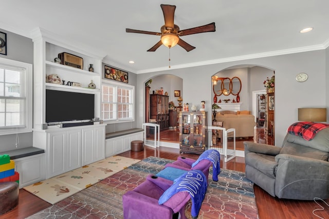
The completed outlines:
[[[163,135],[162,135],[163,134]],[[167,141],[172,141],[171,139],[177,139],[178,133],[175,131],[166,131],[162,132],[163,138],[166,138]],[[169,138],[169,140],[168,140]],[[238,145],[243,145],[243,139],[236,141],[236,147],[242,147]],[[247,141],[253,141],[247,139]],[[259,143],[271,143],[272,139],[270,136],[264,135],[263,130],[257,130],[255,133],[255,142]],[[179,149],[160,147],[158,149],[153,149],[149,147],[144,147],[144,151],[140,152],[132,152],[127,151],[121,154],[120,156],[136,158],[142,160],[149,156],[157,156],[162,158],[167,158],[171,160],[176,160],[179,154]],[[198,155],[196,154],[188,154],[184,153],[184,156],[196,159]],[[243,157],[235,157],[233,160],[223,163],[223,158],[221,159],[221,167],[230,170],[236,171],[245,171],[245,163]],[[265,218],[329,218],[329,207],[324,203],[321,204],[324,210],[318,210],[315,213],[320,217],[315,216],[312,212],[316,209],[320,209],[314,201],[295,201],[295,200],[280,200],[279,198],[272,197],[268,193],[266,193],[263,189],[254,186],[255,199],[259,211],[259,215],[261,219]],[[0,200],[3,202],[3,200]],[[321,203],[321,202],[319,202]],[[329,203],[329,200],[326,200],[326,203]],[[1,203],[0,203],[1,204]],[[40,210],[43,210],[47,207],[51,206],[49,203],[41,200],[39,197],[36,197],[24,189],[20,189],[19,196],[19,205],[13,209],[12,211],[0,215],[0,218],[26,218]],[[220,208],[220,206],[218,206]],[[50,217],[54,218],[54,217]]]

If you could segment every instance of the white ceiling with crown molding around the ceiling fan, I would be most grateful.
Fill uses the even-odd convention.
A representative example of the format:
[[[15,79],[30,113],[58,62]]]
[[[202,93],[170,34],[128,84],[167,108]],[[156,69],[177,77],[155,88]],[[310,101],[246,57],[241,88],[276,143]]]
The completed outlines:
[[[60,40],[105,56],[103,62],[123,70],[167,70],[167,47],[147,52],[160,36],[125,32],[125,28],[160,32],[164,24],[160,4],[176,5],[174,23],[181,30],[216,25],[216,32],[182,36],[196,49],[173,47],[171,69],[329,45],[327,0],[2,0],[0,28],[27,37],[43,28]],[[305,27],[314,30],[299,33]],[[135,64],[129,64],[131,60]]]

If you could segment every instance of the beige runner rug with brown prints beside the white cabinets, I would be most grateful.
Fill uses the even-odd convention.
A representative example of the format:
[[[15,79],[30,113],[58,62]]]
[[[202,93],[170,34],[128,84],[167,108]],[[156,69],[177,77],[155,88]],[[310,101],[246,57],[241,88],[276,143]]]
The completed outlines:
[[[24,189],[50,204],[55,204],[139,161],[129,157],[111,156],[48,180],[26,186]]]

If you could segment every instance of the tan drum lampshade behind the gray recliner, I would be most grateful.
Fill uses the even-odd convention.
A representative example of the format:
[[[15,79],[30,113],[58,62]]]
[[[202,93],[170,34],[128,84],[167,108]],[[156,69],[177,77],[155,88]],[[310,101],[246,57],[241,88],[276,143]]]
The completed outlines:
[[[298,108],[298,121],[326,122],[327,108]]]

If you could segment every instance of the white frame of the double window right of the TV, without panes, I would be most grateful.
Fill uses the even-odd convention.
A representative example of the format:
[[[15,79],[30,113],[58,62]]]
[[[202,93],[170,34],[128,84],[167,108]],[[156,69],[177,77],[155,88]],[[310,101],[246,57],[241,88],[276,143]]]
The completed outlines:
[[[117,118],[116,119],[112,119],[112,120],[104,120],[104,118],[102,118],[102,103],[103,103],[103,89],[101,88],[101,110],[100,110],[100,113],[101,113],[101,120],[104,121],[104,123],[107,123],[107,124],[112,124],[112,123],[126,123],[126,122],[134,122],[135,121],[135,86],[132,86],[132,85],[128,85],[128,84],[122,84],[122,83],[118,83],[118,82],[112,82],[112,81],[108,81],[108,80],[105,80],[105,79],[102,79],[102,86],[105,85],[105,86],[114,86],[116,88],[120,87],[122,89],[129,89],[129,90],[132,90],[132,119],[127,119],[127,118],[118,118],[118,106],[117,106],[117,109],[116,109],[116,112],[117,112]],[[115,99],[117,98],[117,91],[115,91]]]

